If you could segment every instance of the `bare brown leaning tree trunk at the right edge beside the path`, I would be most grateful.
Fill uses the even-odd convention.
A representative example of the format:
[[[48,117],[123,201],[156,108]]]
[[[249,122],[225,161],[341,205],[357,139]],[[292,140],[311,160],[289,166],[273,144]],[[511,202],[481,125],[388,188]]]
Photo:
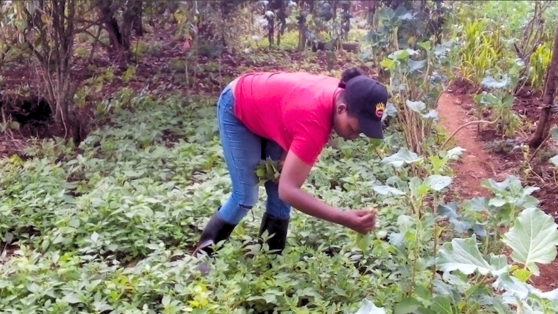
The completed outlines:
[[[536,149],[548,136],[550,130],[551,109],[555,102],[556,89],[558,84],[558,24],[554,35],[554,47],[552,47],[552,58],[548,66],[548,72],[545,83],[545,92],[543,94],[543,109],[541,116],[538,118],[535,133],[529,141],[529,146]]]

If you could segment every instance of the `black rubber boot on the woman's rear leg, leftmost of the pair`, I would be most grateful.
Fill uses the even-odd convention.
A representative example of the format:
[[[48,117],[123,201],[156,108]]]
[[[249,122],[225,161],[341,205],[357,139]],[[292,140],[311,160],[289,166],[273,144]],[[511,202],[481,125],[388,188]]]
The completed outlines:
[[[219,211],[219,209],[217,209]],[[225,239],[229,239],[232,230],[236,225],[231,225],[225,220],[219,218],[217,215],[217,211],[213,213],[209,223],[204,228],[202,235],[199,237],[199,241],[197,246],[192,253],[192,255],[197,256],[199,253],[205,253],[206,255],[213,255],[213,249],[211,248],[212,244],[218,244],[220,241]],[[202,253],[202,254],[203,254]],[[207,265],[203,262],[199,263],[198,268],[202,271],[202,274],[206,275],[209,274],[209,269]]]

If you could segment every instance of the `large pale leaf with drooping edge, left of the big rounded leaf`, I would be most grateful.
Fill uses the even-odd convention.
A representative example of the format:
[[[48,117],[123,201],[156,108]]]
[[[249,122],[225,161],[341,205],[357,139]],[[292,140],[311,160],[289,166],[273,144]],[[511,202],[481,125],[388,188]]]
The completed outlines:
[[[478,251],[474,234],[467,239],[456,238],[444,243],[438,252],[436,263],[442,271],[459,270],[465,275],[473,274],[475,271],[482,275],[491,273],[497,275],[508,268],[497,269],[489,264],[481,255],[481,251]]]

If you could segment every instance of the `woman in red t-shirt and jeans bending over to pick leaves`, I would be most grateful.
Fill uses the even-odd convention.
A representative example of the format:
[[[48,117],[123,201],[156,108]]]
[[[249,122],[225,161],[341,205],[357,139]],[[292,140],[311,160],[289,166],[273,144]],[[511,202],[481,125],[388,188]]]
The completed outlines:
[[[264,184],[266,211],[259,230],[268,231],[271,250],[285,248],[291,207],[363,234],[375,227],[368,210],[337,209],[301,189],[332,130],[345,140],[361,133],[382,139],[386,88],[349,68],[341,80],[310,73],[248,73],[231,82],[217,103],[220,141],[232,194],[204,228],[194,251],[211,254],[257,202],[262,158],[280,160],[278,182]],[[202,272],[206,273],[205,265]]]

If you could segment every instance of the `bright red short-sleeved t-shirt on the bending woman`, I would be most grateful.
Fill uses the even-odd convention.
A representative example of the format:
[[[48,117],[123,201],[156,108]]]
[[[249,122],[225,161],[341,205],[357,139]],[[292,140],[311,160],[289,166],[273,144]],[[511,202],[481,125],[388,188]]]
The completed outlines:
[[[253,133],[313,165],[329,140],[339,79],[310,73],[248,73],[234,91],[234,114]]]

